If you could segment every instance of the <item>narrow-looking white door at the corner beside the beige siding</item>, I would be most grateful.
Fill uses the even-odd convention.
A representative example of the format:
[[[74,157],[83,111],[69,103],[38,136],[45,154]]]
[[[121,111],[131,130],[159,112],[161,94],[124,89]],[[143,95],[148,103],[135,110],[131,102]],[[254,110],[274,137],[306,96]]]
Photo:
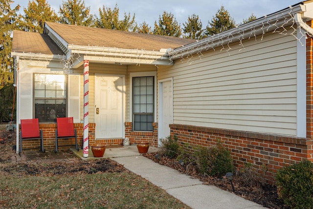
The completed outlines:
[[[160,139],[165,139],[170,136],[170,127],[169,124],[173,123],[173,92],[172,92],[172,81],[165,81],[160,83],[160,130],[159,136]],[[159,145],[160,142],[158,143]]]

